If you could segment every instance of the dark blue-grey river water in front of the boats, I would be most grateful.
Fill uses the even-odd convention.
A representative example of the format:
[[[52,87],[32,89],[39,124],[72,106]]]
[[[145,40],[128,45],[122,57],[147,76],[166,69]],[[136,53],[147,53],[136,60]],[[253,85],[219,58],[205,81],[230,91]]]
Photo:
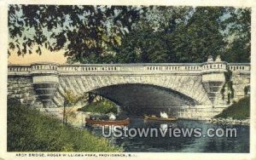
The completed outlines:
[[[207,134],[207,129],[236,129],[237,137],[109,137],[108,139],[117,146],[122,146],[124,151],[130,152],[249,152],[249,126],[223,125],[206,123],[203,121],[177,120],[175,122],[144,121],[141,118],[131,118],[131,128],[157,128],[172,126],[172,129],[199,128],[202,135]],[[91,133],[102,136],[102,128],[86,127]],[[170,129],[168,127],[167,129]],[[105,129],[108,134],[108,129]],[[158,133],[160,135],[160,133]]]

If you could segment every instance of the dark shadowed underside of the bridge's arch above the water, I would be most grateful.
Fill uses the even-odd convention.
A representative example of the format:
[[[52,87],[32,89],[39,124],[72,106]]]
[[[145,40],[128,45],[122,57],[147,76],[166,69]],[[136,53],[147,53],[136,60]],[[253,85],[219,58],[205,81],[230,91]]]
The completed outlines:
[[[184,106],[193,107],[197,104],[195,100],[177,91],[149,84],[111,85],[90,93],[112,100],[121,107],[122,114],[127,116],[160,115],[160,111],[177,116]]]

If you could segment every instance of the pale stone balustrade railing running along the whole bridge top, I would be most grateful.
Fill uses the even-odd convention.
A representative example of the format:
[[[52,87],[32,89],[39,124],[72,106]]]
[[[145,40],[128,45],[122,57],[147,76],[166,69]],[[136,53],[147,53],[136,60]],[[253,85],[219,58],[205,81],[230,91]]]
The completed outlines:
[[[55,63],[34,63],[32,65],[12,65],[8,66],[9,75],[40,73],[40,71],[51,72],[118,72],[118,71],[150,71],[150,72],[179,72],[179,71],[250,71],[248,63],[195,63],[195,64],[81,64],[81,65],[58,65]]]

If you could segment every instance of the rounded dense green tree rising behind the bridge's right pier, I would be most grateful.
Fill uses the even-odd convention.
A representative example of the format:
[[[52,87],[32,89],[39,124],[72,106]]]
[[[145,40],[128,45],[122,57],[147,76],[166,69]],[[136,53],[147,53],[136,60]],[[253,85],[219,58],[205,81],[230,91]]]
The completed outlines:
[[[174,36],[175,53],[181,62],[203,62],[209,55],[224,53],[221,17],[224,8],[198,7]]]

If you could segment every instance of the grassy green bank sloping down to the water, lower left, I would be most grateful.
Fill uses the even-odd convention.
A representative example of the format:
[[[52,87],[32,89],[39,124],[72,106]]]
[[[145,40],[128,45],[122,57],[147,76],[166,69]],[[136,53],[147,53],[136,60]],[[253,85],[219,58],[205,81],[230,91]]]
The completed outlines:
[[[8,151],[122,151],[84,129],[64,126],[36,109],[8,106]]]

